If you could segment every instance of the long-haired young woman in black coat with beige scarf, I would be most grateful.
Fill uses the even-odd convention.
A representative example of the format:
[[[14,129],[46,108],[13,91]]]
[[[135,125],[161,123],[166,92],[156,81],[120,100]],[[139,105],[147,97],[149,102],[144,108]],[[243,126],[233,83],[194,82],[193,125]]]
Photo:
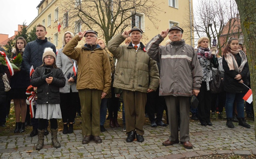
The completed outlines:
[[[233,103],[236,101],[238,125],[245,128],[251,126],[245,123],[244,100],[242,99],[248,88],[243,85],[247,83],[247,72],[249,71],[245,53],[239,49],[238,39],[229,39],[223,52],[222,65],[224,73],[224,91],[226,91],[226,115],[227,127],[234,128],[232,123]]]

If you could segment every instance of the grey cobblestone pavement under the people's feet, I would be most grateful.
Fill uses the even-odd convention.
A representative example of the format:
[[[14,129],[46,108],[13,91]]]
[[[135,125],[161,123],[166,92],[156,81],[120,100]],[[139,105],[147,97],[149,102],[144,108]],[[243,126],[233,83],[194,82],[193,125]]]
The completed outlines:
[[[73,134],[58,133],[60,148],[53,148],[51,135],[44,138],[44,147],[35,150],[38,137],[29,134],[0,137],[0,158],[189,158],[210,154],[256,155],[254,126],[235,128],[226,126],[226,121],[212,122],[213,126],[190,123],[190,142],[193,149],[185,149],[180,143],[163,146],[168,139],[169,126],[152,128],[145,126],[145,141],[126,143],[126,134],[121,128],[109,128],[101,133],[102,143],[91,141],[82,144],[81,130]],[[28,132],[27,132],[28,133]]]

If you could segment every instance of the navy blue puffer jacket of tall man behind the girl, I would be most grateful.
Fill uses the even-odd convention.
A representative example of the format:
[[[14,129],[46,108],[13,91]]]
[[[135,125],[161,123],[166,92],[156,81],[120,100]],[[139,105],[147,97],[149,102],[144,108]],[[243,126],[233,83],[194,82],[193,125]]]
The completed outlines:
[[[22,64],[25,70],[29,73],[31,66],[33,65],[34,69],[43,64],[43,53],[44,48],[52,48],[53,52],[56,54],[56,47],[47,41],[47,38],[44,40],[36,38],[36,40],[29,42],[26,45],[26,48],[23,53]]]

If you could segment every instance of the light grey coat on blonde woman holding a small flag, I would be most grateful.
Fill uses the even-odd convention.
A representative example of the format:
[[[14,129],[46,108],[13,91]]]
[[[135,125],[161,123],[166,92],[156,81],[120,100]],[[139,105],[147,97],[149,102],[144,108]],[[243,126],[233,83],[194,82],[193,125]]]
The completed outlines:
[[[58,54],[56,57],[56,65],[58,68],[62,69],[62,72],[64,74],[64,77],[66,78],[66,84],[63,88],[59,88],[59,92],[60,93],[70,93],[70,89],[72,90],[72,92],[78,92],[78,90],[76,89],[76,82],[68,82],[68,74],[72,72],[72,78],[74,78],[75,80],[77,79],[77,76],[75,77],[73,70],[73,64],[72,62],[76,63],[76,67],[78,66],[77,61],[74,59],[69,60],[69,57],[67,55],[65,55],[62,50],[63,50],[64,45],[62,46],[61,49],[58,50]],[[76,72],[77,74],[77,72]],[[70,78],[70,77],[69,77]]]

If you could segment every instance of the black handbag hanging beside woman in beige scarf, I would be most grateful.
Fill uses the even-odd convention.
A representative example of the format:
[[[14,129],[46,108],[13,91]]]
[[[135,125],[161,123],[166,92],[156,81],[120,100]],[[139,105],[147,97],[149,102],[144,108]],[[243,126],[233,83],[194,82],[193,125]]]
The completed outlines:
[[[212,76],[212,81],[209,83],[211,93],[220,93],[224,90],[224,83],[221,80],[221,73],[217,67],[217,74]]]

